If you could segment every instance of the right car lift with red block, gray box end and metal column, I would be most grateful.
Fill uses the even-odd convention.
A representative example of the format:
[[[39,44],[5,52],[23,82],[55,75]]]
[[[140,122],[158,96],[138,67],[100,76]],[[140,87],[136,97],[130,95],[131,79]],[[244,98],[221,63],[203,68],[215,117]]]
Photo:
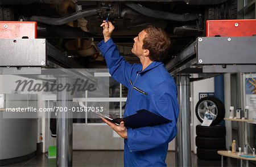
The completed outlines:
[[[175,140],[176,166],[191,166],[189,82],[225,72],[256,72],[256,20],[208,20],[207,37],[198,37],[167,63],[176,76],[180,105]],[[201,77],[189,80],[189,74]]]

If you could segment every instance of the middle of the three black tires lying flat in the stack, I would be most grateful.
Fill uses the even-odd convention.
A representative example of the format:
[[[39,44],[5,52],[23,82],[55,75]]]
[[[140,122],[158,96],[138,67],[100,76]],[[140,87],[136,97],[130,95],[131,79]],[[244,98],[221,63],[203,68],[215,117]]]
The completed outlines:
[[[204,138],[196,136],[196,146],[206,149],[226,148],[226,140],[225,138]]]

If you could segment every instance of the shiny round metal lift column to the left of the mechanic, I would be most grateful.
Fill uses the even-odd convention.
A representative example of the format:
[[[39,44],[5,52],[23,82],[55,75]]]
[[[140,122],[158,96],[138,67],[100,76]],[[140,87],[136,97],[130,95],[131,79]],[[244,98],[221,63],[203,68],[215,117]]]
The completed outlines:
[[[60,76],[57,84],[71,84],[68,76]],[[66,89],[57,91],[57,166],[72,166],[72,96]],[[62,112],[61,112],[62,111]],[[66,112],[65,112],[66,111]]]

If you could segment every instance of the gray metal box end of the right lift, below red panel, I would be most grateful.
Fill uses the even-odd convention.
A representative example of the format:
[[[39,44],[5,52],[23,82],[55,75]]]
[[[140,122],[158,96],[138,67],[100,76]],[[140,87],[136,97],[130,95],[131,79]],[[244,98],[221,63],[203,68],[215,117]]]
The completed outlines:
[[[199,37],[199,65],[256,64],[256,37]]]

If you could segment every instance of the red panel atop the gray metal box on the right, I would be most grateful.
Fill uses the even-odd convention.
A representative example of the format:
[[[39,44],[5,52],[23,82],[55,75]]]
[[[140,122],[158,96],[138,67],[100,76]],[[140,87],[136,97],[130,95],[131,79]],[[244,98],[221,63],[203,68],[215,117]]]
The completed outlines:
[[[239,37],[253,35],[256,35],[256,19],[207,20],[207,37]]]

